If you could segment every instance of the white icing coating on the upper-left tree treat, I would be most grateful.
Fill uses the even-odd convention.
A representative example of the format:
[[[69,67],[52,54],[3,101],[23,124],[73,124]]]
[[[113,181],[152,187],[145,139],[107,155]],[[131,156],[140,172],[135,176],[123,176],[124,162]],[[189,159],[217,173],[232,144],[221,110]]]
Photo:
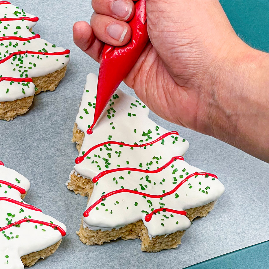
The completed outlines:
[[[1,1],[0,1],[1,3]],[[18,13],[19,12],[19,13]],[[15,14],[14,14],[15,13]],[[18,18],[35,16],[25,13],[14,5],[0,4],[0,18]],[[55,53],[63,52],[64,48],[56,47],[54,44],[41,38],[30,40],[16,40],[15,38],[32,38],[29,30],[36,25],[36,21],[15,20],[1,21],[0,19],[0,60],[17,51],[33,51]],[[7,28],[7,29],[6,29]],[[10,37],[8,40],[1,38]],[[38,36],[37,36],[38,37]],[[63,55],[38,55],[26,53],[15,55],[0,63],[0,75],[12,78],[35,78],[45,76],[66,66],[70,60],[69,51]],[[12,84],[12,85],[11,85]],[[32,82],[0,81],[0,102],[14,101],[23,97],[34,95],[36,89]],[[25,85],[24,85],[25,84]]]

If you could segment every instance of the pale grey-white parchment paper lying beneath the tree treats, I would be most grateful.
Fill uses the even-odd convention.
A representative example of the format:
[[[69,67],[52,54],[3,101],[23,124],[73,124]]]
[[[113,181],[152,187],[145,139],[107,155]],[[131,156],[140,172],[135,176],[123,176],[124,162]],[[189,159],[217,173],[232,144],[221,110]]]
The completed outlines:
[[[239,248],[269,240],[269,165],[212,137],[150,117],[168,130],[177,130],[190,148],[185,159],[218,175],[226,187],[215,209],[194,221],[177,249],[143,253],[140,240],[117,240],[86,246],[75,234],[87,198],[69,191],[65,182],[78,156],[71,143],[86,75],[98,64],[72,41],[72,26],[90,20],[90,1],[14,0],[39,17],[34,32],[71,49],[66,77],[54,92],[41,93],[31,110],[14,121],[0,122],[0,159],[31,182],[25,202],[43,209],[67,225],[68,233],[54,255],[33,269],[184,268]],[[121,89],[134,95],[125,85]],[[257,139],[259,134],[257,134]]]

